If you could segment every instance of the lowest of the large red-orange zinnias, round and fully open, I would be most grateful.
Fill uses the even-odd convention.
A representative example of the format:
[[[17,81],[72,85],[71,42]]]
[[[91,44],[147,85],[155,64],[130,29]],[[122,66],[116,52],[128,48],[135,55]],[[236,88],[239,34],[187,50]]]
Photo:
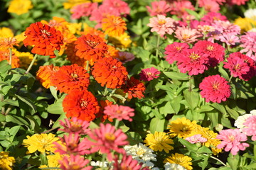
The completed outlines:
[[[67,118],[76,117],[80,120],[91,121],[100,111],[97,99],[90,91],[70,91],[63,100],[63,111]]]

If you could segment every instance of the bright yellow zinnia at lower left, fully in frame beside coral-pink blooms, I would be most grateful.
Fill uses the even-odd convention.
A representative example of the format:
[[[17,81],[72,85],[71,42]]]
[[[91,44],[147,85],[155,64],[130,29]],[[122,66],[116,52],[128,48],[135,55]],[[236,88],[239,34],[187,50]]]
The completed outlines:
[[[35,134],[30,136],[27,136],[28,139],[23,140],[23,145],[25,147],[28,147],[28,152],[33,153],[37,150],[41,153],[47,151],[54,152],[55,151],[55,145],[53,145],[53,142],[58,141],[58,137],[55,137],[52,133],[49,134]]]

